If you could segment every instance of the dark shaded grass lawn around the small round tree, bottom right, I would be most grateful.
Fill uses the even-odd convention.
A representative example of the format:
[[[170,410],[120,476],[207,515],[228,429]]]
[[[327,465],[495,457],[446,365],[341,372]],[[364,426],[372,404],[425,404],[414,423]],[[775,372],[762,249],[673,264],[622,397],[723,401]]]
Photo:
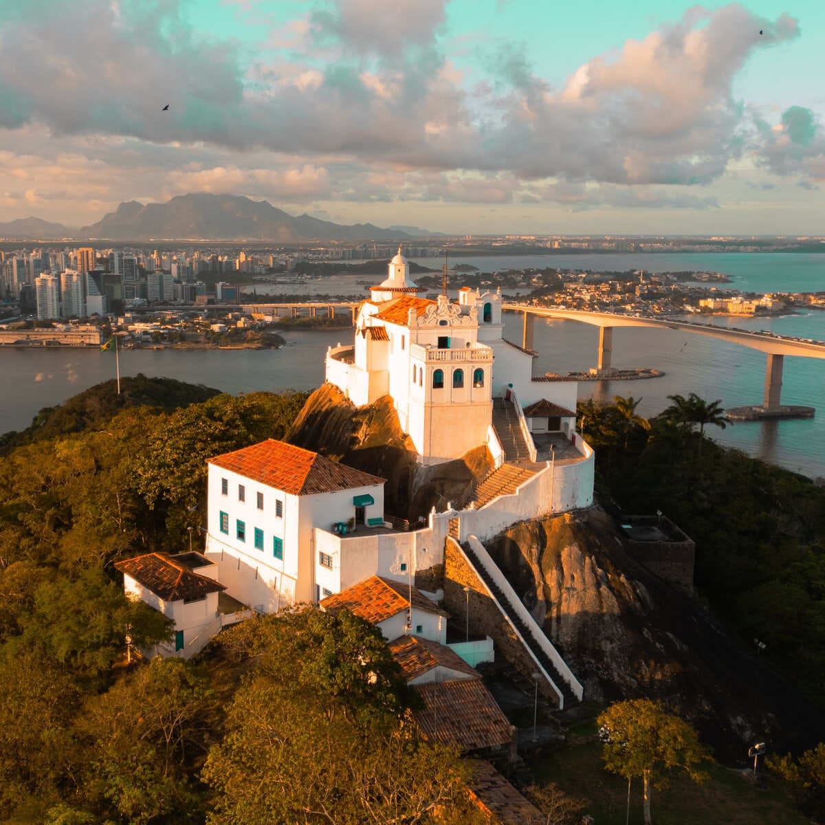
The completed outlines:
[[[590,733],[576,730],[575,733]],[[587,813],[598,825],[625,825],[627,780],[602,767],[601,744],[571,744],[531,761],[536,780],[554,781],[572,796],[589,800]],[[772,788],[751,785],[734,771],[710,764],[709,779],[695,785],[674,774],[667,788],[653,790],[656,825],[808,825],[785,795]],[[643,823],[642,783],[634,780],[630,791],[630,823]]]

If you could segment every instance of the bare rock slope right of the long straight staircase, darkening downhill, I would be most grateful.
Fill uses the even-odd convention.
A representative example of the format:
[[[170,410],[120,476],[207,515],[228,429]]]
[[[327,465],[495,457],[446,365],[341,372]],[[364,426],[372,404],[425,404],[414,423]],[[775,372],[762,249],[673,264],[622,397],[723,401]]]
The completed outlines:
[[[488,550],[585,699],[665,700],[729,758],[751,740],[796,749],[822,731],[822,711],[695,599],[637,563],[598,507],[522,522]]]

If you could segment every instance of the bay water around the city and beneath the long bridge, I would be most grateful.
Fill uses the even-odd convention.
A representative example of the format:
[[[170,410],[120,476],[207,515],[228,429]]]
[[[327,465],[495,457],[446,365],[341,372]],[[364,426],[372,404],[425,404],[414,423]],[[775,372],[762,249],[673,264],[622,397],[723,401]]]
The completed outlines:
[[[825,255],[729,253],[718,255],[552,255],[464,258],[479,269],[559,266],[592,270],[715,270],[733,279],[731,287],[754,291],[825,290]],[[433,266],[432,258],[422,262]],[[353,284],[353,287],[356,287]],[[290,287],[291,288],[291,287]],[[506,314],[506,335],[521,341],[521,316]],[[716,318],[715,323],[771,329],[785,335],[825,340],[825,312],[811,310],[782,318]],[[163,375],[206,384],[229,393],[257,389],[312,389],[323,382],[327,347],[351,340],[348,330],[294,331],[281,350],[134,350],[121,352],[122,375]],[[598,328],[572,321],[537,318],[536,374],[587,370],[596,365]],[[616,367],[654,367],[666,375],[652,380],[582,382],[580,398],[614,395],[642,398],[643,415],[669,405],[668,395],[690,392],[725,407],[761,403],[765,356],[735,344],[660,329],[615,328]],[[31,423],[40,408],[115,375],[110,352],[90,350],[0,349],[0,432]],[[812,477],[825,476],[825,361],[785,358],[782,400],[818,409],[813,419],[740,422],[718,441]]]

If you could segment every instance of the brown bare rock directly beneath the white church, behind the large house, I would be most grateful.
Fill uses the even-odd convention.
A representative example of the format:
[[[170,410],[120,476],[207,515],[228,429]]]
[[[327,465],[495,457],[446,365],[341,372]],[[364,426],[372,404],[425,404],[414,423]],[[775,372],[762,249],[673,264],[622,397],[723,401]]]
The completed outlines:
[[[423,467],[389,395],[358,408],[334,384],[323,384],[309,396],[286,437],[387,479],[387,512],[409,521],[426,517],[432,507],[443,510],[493,466],[487,446],[481,446],[455,461]]]

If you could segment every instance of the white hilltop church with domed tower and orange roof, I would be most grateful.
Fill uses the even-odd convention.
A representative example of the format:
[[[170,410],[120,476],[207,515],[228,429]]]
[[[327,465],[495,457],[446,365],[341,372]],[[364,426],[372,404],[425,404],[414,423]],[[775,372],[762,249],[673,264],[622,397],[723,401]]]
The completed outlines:
[[[535,353],[503,337],[502,296],[464,287],[422,298],[401,250],[361,304],[352,345],[328,351],[326,375],[356,406],[393,399],[424,464],[491,446],[493,398],[576,408],[575,381],[534,380]],[[574,413],[570,413],[574,415]]]

